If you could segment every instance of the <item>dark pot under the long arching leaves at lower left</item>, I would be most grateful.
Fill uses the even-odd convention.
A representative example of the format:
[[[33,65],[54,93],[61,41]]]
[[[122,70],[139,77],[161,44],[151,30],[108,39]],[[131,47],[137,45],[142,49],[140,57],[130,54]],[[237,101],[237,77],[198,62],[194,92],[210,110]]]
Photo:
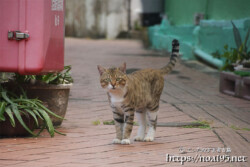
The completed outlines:
[[[14,137],[14,136],[29,136],[30,133],[24,129],[24,127],[19,123],[19,121],[15,119],[16,126],[13,127],[10,123],[9,117],[6,115],[5,116],[6,120],[5,121],[0,121],[0,136],[1,137]],[[24,116],[22,115],[22,119],[26,126],[30,130],[35,129],[35,121],[33,118]]]

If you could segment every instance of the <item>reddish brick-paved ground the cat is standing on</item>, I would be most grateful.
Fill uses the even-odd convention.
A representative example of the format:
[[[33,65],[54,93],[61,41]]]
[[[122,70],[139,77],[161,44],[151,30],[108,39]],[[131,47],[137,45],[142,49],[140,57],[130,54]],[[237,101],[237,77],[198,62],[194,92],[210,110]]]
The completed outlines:
[[[152,56],[153,55],[153,56]],[[74,86],[68,106],[67,120],[60,131],[67,136],[50,138],[0,139],[0,166],[15,167],[96,167],[96,166],[182,166],[167,163],[166,154],[196,156],[197,152],[179,148],[229,147],[228,155],[250,156],[250,103],[218,92],[218,76],[214,70],[196,62],[179,64],[165,79],[161,97],[160,123],[208,121],[212,129],[158,127],[155,142],[133,142],[113,145],[115,129],[103,125],[111,120],[105,92],[98,82],[97,64],[106,67],[127,62],[129,70],[159,68],[168,57],[142,49],[137,41],[66,39],[66,64],[73,65]],[[197,70],[199,69],[199,70]],[[100,121],[100,125],[94,125]],[[134,127],[135,135],[137,127]],[[224,155],[226,153],[201,153]],[[248,159],[249,161],[249,159]],[[250,166],[247,163],[185,163],[184,166]]]

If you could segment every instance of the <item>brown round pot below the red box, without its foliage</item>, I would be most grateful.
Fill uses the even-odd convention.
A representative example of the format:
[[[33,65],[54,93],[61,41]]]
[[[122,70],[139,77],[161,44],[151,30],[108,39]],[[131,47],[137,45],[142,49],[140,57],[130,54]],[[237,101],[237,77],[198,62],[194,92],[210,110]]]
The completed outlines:
[[[67,111],[71,85],[35,84],[25,85],[24,88],[29,98],[41,100],[48,109],[64,118]],[[63,121],[54,116],[51,116],[51,120],[54,126],[60,126]]]

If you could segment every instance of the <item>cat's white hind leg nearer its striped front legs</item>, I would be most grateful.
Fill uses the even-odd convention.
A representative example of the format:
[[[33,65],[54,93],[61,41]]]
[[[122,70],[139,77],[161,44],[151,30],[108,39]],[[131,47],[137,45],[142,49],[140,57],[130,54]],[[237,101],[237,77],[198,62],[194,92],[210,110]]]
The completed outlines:
[[[137,135],[135,136],[135,141],[143,141],[145,137],[146,127],[147,127],[147,121],[146,121],[146,112],[144,110],[142,111],[136,111],[136,118],[138,120],[139,128]]]

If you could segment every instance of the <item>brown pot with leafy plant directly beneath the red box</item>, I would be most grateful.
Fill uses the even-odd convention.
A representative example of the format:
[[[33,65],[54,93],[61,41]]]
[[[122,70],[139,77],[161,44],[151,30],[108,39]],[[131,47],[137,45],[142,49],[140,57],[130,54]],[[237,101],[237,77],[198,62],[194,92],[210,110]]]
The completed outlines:
[[[65,66],[61,72],[46,75],[15,74],[14,81],[22,85],[29,98],[38,98],[48,109],[64,118],[73,83],[70,70],[71,66]],[[51,119],[54,126],[60,126],[63,121],[54,116]]]

